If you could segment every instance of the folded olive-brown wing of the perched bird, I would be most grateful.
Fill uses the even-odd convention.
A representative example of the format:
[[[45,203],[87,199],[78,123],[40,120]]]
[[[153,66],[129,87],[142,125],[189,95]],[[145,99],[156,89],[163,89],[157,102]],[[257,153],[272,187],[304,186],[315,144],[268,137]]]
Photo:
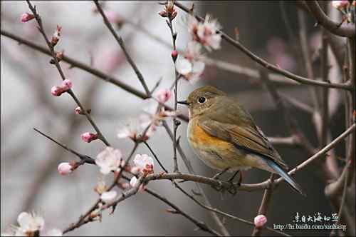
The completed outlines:
[[[224,120],[226,120],[226,116]],[[232,124],[216,121],[215,119],[202,118],[199,119],[198,125],[211,136],[229,141],[237,148],[243,148],[251,153],[271,158],[283,168],[288,169],[281,156],[279,156],[268,139],[263,136],[261,130],[254,125],[252,120],[251,123]]]

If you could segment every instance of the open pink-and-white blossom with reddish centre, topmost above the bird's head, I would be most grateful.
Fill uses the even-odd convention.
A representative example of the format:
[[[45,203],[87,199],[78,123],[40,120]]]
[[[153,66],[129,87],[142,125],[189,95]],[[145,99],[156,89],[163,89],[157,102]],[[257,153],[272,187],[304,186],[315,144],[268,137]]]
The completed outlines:
[[[211,20],[209,14],[205,16],[204,22],[199,22],[194,16],[189,16],[188,31],[193,40],[205,46],[208,51],[220,49],[221,34],[216,33],[221,28],[219,22]]]

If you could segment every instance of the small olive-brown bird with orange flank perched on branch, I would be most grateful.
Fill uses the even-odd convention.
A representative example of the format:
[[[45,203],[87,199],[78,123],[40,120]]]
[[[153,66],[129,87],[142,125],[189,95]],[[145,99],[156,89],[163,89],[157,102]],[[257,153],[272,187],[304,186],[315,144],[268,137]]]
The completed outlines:
[[[189,108],[187,137],[197,156],[219,171],[260,168],[278,173],[298,193],[300,185],[288,175],[288,166],[237,101],[213,86],[203,86],[178,101]]]

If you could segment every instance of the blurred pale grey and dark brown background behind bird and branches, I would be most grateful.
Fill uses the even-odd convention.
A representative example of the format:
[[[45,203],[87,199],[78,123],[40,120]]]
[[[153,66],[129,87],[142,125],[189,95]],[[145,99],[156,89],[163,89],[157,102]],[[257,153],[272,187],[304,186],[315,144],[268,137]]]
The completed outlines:
[[[193,1],[184,1],[191,6]],[[125,60],[120,47],[110,34],[100,15],[95,14],[92,1],[33,1],[43,19],[48,36],[53,34],[56,25],[63,27],[57,50],[64,50],[67,56],[92,64],[96,69],[105,71],[116,79],[143,91],[140,82]],[[162,6],[157,1],[108,1],[105,9],[113,11],[124,21],[118,29],[125,45],[135,60],[150,89],[159,79],[159,88],[167,88],[174,81],[174,66],[170,56],[171,49],[137,28],[146,29],[162,41],[171,43],[171,35],[165,22],[157,13]],[[301,76],[307,76],[305,64],[298,48],[297,6],[294,1],[194,1],[194,10],[200,15],[211,14],[219,19],[223,31],[234,37],[234,29],[239,29],[239,39],[255,54],[278,64],[283,69]],[[36,21],[21,23],[20,16],[29,11],[25,1],[1,1],[1,30],[9,31],[36,44],[45,46],[43,37],[36,29]],[[330,16],[338,19],[340,13],[330,9]],[[286,26],[286,19],[287,25]],[[320,76],[320,28],[313,27],[313,18],[305,13],[308,47],[312,53],[315,78]],[[187,34],[187,14],[178,10],[174,19],[174,29],[178,33],[177,46],[184,49],[189,41]],[[288,31],[289,29],[289,31]],[[241,68],[258,72],[261,69],[241,51],[222,41],[219,51],[206,54],[210,59],[229,62]],[[55,143],[33,131],[40,131],[67,144],[80,153],[95,157],[103,143],[93,141],[84,143],[80,134],[93,131],[83,116],[75,116],[73,99],[64,94],[51,95],[51,87],[61,84],[57,69],[48,64],[50,58],[16,41],[1,35],[1,232],[11,224],[21,211],[36,211],[46,219],[49,228],[66,228],[77,221],[98,198],[93,191],[98,181],[98,168],[81,166],[70,176],[60,176],[58,163],[75,160],[76,157],[58,147]],[[340,69],[330,54],[330,80],[341,81]],[[70,69],[70,65],[61,63],[64,73],[73,81],[73,91],[86,108],[92,109],[95,122],[103,131],[112,146],[120,148],[125,156],[130,153],[132,141],[118,139],[117,128],[123,121],[137,117],[145,101],[126,91],[105,83],[80,69]],[[258,126],[267,136],[289,136],[288,126],[264,84],[245,73],[236,73],[214,65],[206,65],[202,79],[197,84],[179,81],[179,99],[199,86],[213,85],[226,91],[244,104]],[[278,91],[289,98],[298,99],[313,106],[310,88],[287,83],[276,83]],[[330,89],[330,129],[333,137],[345,129],[344,109],[340,91]],[[173,104],[173,99],[169,101]],[[179,108],[187,114],[187,109]],[[312,123],[312,114],[290,107],[290,115],[297,121],[310,141],[317,146],[317,137]],[[172,125],[172,121],[168,121]],[[187,123],[182,122],[178,134],[187,157],[198,174],[213,176],[211,170],[192,153],[186,139]],[[159,127],[149,140],[164,166],[172,171],[172,143],[164,128]],[[301,148],[276,146],[290,167],[308,158]],[[344,156],[343,146],[336,149],[337,156]],[[150,151],[140,146],[137,153]],[[187,172],[179,158],[179,168]],[[308,193],[304,198],[290,189],[286,183],[273,192],[268,210],[268,226],[273,223],[293,223],[295,213],[305,216],[331,216],[337,211],[331,208],[324,195],[324,183],[318,176],[318,167],[308,166],[295,176],[298,183]],[[155,166],[155,172],[161,171]],[[227,177],[227,176],[226,176]],[[244,176],[244,182],[256,183],[269,177],[265,171],[250,170]],[[194,183],[182,183],[190,191]],[[208,211],[197,206],[189,198],[172,186],[169,181],[154,181],[148,187],[205,221],[213,228],[214,221]],[[221,195],[209,186],[203,186],[211,204],[233,215],[252,221],[258,212],[263,191],[238,192],[235,196]],[[88,223],[70,232],[77,236],[192,236],[206,235],[203,231],[194,231],[196,226],[179,215],[167,213],[166,206],[147,193],[120,203],[115,213],[103,214],[103,221]],[[252,227],[231,219],[226,219],[226,227],[236,236],[251,235]],[[263,232],[271,235],[270,232]],[[325,236],[329,231],[286,231],[295,236]]]

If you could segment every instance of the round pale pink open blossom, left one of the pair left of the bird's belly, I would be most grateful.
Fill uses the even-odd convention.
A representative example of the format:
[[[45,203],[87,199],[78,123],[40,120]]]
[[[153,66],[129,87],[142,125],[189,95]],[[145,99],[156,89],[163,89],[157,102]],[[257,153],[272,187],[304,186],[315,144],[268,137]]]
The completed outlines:
[[[101,151],[95,163],[100,167],[100,172],[103,174],[108,174],[111,171],[120,171],[120,166],[125,166],[125,161],[122,160],[121,151],[107,146],[103,151]]]

